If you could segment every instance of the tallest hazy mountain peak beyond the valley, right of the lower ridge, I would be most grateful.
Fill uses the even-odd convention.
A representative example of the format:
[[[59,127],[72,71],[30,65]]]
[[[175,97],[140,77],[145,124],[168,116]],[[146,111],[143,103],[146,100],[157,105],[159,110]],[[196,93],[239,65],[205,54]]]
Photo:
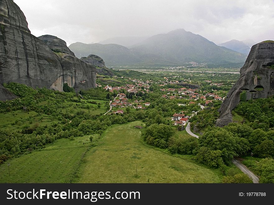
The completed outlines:
[[[217,46],[201,35],[184,29],[154,35],[132,48],[139,53],[155,54],[175,63],[244,63],[246,56]]]

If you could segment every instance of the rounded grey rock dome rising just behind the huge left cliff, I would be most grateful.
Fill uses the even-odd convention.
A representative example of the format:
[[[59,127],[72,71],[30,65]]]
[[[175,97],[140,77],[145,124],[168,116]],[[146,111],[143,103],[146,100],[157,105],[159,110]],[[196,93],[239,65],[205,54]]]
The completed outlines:
[[[75,56],[74,53],[67,47],[67,43],[53,35],[41,35],[38,37],[41,41],[47,44],[50,49],[56,53],[63,53]]]

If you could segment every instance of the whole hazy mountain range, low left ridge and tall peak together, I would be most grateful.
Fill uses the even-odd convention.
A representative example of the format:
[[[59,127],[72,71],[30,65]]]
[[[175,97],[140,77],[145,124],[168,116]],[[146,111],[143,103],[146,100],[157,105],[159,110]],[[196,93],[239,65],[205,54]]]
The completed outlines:
[[[187,62],[208,63],[215,66],[241,67],[246,55],[223,46],[217,46],[201,35],[183,29],[154,35],[130,49],[118,44],[83,44],[69,46],[77,57],[95,54],[102,57],[106,66],[175,66]]]

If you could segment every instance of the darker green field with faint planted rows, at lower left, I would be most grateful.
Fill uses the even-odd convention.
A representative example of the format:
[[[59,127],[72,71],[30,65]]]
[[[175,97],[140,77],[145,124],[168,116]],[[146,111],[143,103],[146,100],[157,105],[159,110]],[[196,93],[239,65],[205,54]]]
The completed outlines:
[[[74,140],[59,139],[41,151],[8,160],[0,165],[0,183],[69,182],[73,170],[90,144],[89,136],[75,137]]]

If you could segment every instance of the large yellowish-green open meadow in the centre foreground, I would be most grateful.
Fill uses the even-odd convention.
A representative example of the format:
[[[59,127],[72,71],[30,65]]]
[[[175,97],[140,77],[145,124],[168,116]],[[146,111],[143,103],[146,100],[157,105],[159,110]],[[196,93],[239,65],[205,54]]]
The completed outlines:
[[[114,125],[86,155],[79,183],[220,183],[221,174],[197,165],[191,156],[176,157],[145,145],[142,122]],[[137,177],[136,177],[137,165]]]

